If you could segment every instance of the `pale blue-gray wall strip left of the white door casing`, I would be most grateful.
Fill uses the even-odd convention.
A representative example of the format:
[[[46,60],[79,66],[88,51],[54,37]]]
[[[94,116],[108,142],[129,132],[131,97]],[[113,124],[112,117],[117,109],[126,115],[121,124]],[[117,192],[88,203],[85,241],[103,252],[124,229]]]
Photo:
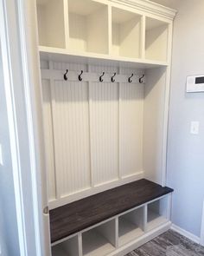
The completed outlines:
[[[3,148],[3,167],[0,166],[0,246],[1,256],[20,255],[16,220],[16,202],[12,164],[10,158],[10,135],[3,89],[3,69],[0,45],[0,143]]]

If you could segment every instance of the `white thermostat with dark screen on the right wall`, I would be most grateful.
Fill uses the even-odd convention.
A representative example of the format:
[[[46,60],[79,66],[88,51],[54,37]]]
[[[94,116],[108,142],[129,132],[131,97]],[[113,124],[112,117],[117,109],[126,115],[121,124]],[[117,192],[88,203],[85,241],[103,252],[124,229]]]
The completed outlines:
[[[204,92],[204,75],[187,76],[187,92]]]

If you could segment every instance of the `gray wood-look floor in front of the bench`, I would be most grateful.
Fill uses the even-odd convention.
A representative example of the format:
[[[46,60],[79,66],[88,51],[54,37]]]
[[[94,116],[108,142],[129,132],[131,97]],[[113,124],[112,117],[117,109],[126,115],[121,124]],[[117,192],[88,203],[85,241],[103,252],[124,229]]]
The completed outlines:
[[[126,256],[204,256],[204,247],[169,230]]]

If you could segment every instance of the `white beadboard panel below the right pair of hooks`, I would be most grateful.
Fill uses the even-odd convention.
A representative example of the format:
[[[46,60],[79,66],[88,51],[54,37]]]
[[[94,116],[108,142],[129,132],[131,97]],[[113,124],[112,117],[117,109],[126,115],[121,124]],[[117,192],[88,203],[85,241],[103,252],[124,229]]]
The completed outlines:
[[[121,177],[143,170],[143,86],[119,87],[119,167]]]

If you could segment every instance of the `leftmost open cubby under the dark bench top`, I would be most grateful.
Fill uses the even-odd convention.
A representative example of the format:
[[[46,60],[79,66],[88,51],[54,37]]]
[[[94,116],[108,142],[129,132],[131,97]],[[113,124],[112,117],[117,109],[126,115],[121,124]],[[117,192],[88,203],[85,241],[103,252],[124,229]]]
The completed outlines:
[[[52,246],[52,256],[79,256],[78,236],[74,236],[61,244]]]

